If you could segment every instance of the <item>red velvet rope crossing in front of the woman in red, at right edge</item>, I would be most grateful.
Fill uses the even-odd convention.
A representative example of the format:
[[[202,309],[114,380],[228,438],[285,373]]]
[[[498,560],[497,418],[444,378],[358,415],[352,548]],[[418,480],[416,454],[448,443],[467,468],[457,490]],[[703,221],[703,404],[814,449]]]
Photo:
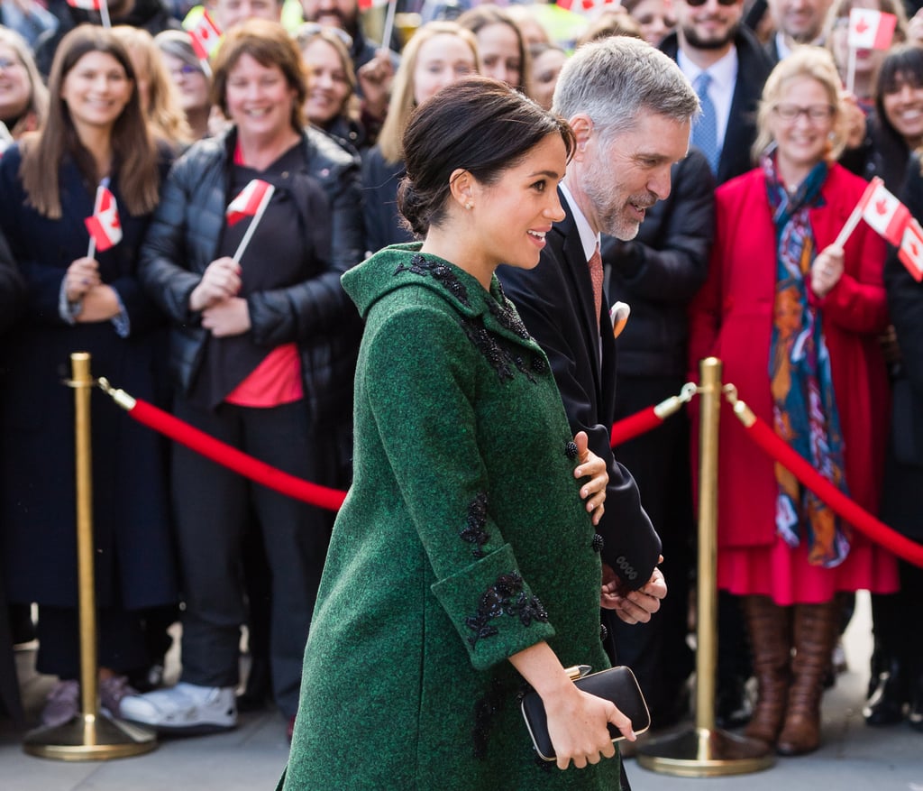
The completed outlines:
[[[745,426],[745,428],[753,442],[789,469],[798,481],[817,494],[824,503],[830,505],[840,517],[893,554],[903,557],[914,566],[923,568],[923,544],[911,541],[856,505],[833,486],[833,483],[823,478],[804,456],[798,454],[790,445],[785,444],[764,420],[757,418],[752,426]]]

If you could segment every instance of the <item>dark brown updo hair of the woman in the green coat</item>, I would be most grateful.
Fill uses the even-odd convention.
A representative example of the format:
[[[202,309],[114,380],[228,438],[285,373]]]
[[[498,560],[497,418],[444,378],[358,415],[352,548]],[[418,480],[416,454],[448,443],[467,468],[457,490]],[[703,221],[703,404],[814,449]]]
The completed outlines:
[[[496,79],[462,79],[438,91],[414,110],[403,135],[406,175],[398,209],[404,225],[426,236],[445,217],[455,170],[489,186],[552,134],[564,140],[570,159],[575,141],[567,121]]]

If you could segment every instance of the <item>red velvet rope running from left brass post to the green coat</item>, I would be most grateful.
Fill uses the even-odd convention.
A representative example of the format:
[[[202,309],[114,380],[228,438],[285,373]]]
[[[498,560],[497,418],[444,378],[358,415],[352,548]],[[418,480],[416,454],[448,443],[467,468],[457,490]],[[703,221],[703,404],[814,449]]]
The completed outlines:
[[[222,443],[205,432],[190,426],[188,423],[173,415],[164,412],[147,401],[136,401],[135,406],[128,409],[128,414],[154,431],[161,432],[170,439],[180,444],[186,445],[200,453],[202,456],[210,458],[212,461],[223,465],[234,472],[252,481],[262,483],[264,486],[274,489],[276,492],[287,494],[296,500],[302,500],[310,505],[318,505],[321,508],[327,508],[330,511],[340,510],[343,500],[346,497],[345,492],[337,489],[330,489],[327,486],[320,486],[310,481],[302,481],[282,472],[281,469],[270,467],[269,464],[259,461],[253,456],[247,456],[246,453],[237,450],[232,445]]]

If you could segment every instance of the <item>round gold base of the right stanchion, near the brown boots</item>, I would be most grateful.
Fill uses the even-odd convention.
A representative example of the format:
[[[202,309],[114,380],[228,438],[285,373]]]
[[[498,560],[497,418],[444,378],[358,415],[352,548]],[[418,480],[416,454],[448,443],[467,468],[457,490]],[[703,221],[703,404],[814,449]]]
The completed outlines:
[[[774,762],[772,748],[763,742],[707,728],[663,736],[638,748],[638,763],[645,769],[678,777],[760,772]]]

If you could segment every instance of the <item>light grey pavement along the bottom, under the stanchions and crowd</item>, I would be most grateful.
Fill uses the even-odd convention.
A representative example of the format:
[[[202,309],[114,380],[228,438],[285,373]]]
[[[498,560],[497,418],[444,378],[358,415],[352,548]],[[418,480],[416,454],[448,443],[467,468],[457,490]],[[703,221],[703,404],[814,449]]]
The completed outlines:
[[[920,628],[917,613],[908,614],[907,627]],[[824,743],[818,752],[779,759],[773,768],[760,773],[711,778],[652,773],[638,766],[637,761],[629,760],[632,788],[634,791],[923,791],[923,734],[906,724],[876,729],[866,727],[862,721],[860,710],[868,680],[870,637],[868,599],[861,594],[857,614],[845,635],[845,651],[849,670],[838,677],[836,686],[824,697]],[[52,679],[32,672],[29,652],[20,653],[18,661],[26,704],[34,717]],[[175,675],[175,657],[171,670]],[[686,726],[691,725],[689,722]],[[148,755],[114,761],[68,763],[33,758],[22,751],[20,739],[21,734],[8,724],[0,724],[0,791],[272,789],[288,752],[282,717],[270,711],[244,715],[232,733],[165,740]],[[536,791],[539,787],[536,785]]]

